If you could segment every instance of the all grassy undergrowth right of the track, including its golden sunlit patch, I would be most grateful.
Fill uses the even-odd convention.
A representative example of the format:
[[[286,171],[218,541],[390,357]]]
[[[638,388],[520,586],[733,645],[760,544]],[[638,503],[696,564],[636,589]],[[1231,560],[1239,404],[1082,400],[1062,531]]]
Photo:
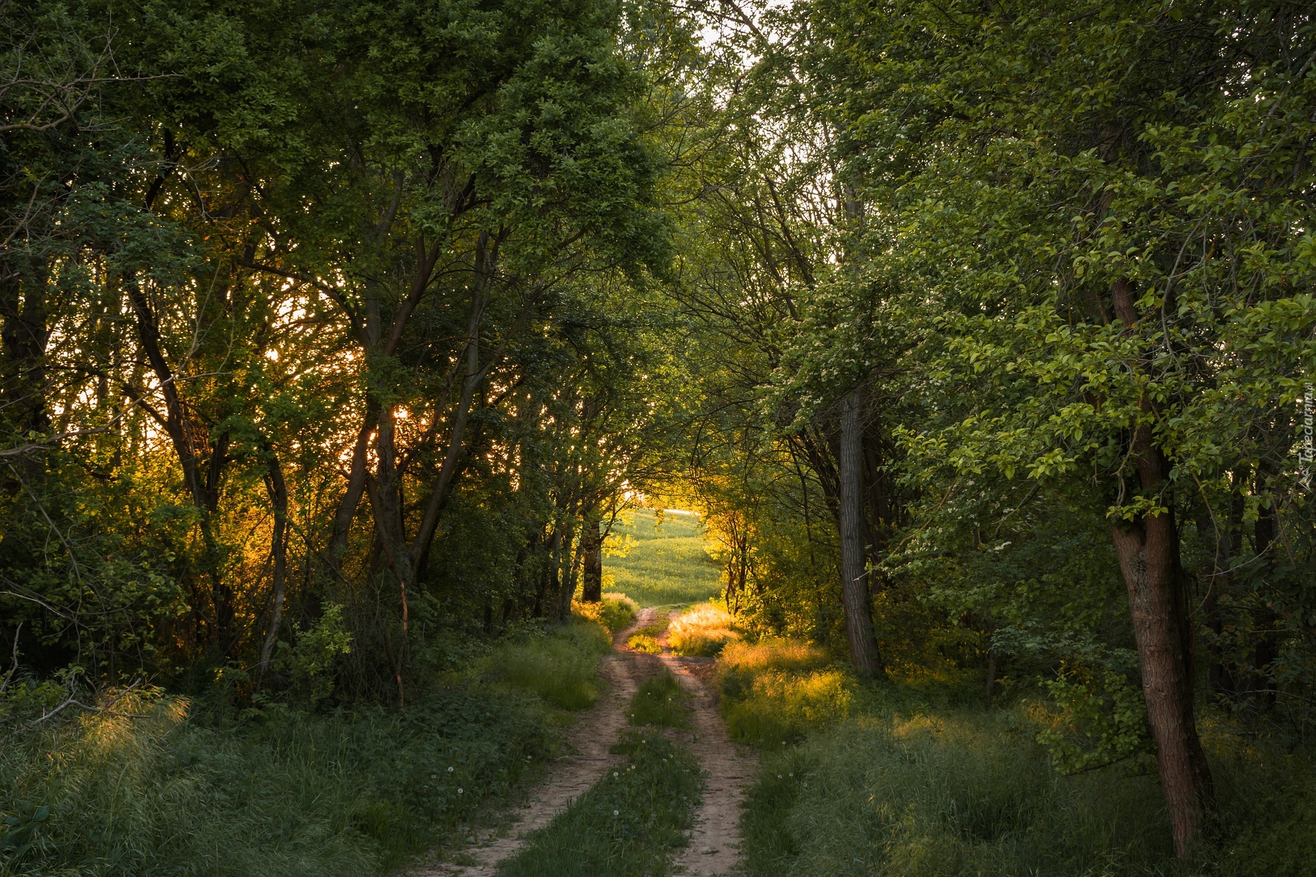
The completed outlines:
[[[1204,742],[1221,845],[1174,859],[1149,763],[1065,776],[1037,742],[1050,713],[991,711],[961,680],[861,686],[799,642],[729,647],[722,710],[766,749],[741,828],[750,877],[1298,877],[1316,861],[1316,774],[1229,728]]]

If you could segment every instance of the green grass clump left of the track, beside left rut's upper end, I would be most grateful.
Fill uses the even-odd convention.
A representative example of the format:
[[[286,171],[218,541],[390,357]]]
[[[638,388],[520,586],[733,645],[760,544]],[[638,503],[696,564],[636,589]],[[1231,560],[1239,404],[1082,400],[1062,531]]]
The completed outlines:
[[[487,675],[559,709],[583,710],[599,697],[597,656],[611,647],[601,625],[574,621],[550,634],[503,643],[487,659]]]

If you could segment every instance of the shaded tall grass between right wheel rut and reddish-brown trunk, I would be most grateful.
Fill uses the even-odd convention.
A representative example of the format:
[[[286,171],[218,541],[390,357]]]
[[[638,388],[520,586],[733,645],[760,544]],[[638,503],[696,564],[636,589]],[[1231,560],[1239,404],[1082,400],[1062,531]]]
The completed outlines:
[[[1155,780],[1065,777],[1017,710],[867,715],[769,756],[747,873],[1150,874],[1171,861]]]

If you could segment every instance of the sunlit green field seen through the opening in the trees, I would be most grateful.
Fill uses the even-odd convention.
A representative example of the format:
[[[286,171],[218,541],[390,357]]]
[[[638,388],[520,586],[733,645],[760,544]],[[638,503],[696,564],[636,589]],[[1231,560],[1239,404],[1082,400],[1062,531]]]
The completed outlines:
[[[636,511],[629,534],[638,544],[625,557],[604,557],[603,572],[641,606],[675,606],[701,602],[719,590],[717,563],[704,551],[704,526],[694,515],[667,514],[654,526],[653,511]]]

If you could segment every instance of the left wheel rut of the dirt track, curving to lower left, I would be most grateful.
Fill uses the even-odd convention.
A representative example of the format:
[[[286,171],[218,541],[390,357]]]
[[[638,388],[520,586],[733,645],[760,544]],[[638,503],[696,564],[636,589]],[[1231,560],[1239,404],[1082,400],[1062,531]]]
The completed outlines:
[[[625,648],[626,638],[641,625],[653,621],[650,611],[613,638],[613,648]],[[463,864],[443,863],[425,865],[409,872],[412,877],[488,877],[497,872],[497,863],[516,855],[525,845],[526,836],[537,831],[567,809],[576,797],[597,782],[604,770],[617,760],[608,752],[626,724],[626,706],[634,697],[640,681],[653,671],[637,660],[641,656],[629,650],[613,651],[599,661],[599,673],[608,682],[608,690],[588,711],[582,713],[574,728],[580,734],[571,738],[576,752],[558,759],[549,778],[530,790],[529,799],[513,810],[513,823],[504,830],[484,830],[476,841],[458,851],[451,859]],[[647,672],[646,672],[647,671]]]

